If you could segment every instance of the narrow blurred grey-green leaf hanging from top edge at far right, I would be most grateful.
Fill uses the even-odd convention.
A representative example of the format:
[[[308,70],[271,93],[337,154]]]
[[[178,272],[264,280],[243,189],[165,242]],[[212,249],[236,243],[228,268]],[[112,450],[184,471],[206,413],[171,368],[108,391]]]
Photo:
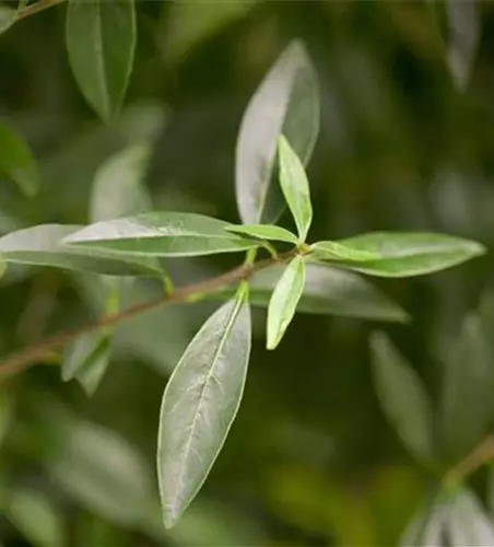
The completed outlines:
[[[480,14],[475,0],[448,0],[448,65],[459,90],[468,85],[480,42]]]

